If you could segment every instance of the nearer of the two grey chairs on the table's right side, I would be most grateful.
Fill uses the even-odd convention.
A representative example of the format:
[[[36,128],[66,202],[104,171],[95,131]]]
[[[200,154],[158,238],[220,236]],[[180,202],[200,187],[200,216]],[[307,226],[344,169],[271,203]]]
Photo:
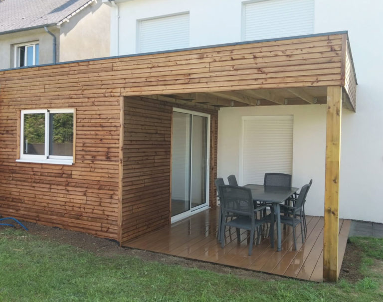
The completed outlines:
[[[293,237],[294,237],[294,249],[297,250],[297,241],[295,236],[295,227],[301,225],[301,235],[302,243],[305,242],[306,233],[303,226],[303,205],[306,200],[307,193],[310,189],[310,184],[305,184],[298,195],[298,198],[295,201],[295,205],[284,205],[281,204],[281,223],[285,225],[290,225],[293,228]]]

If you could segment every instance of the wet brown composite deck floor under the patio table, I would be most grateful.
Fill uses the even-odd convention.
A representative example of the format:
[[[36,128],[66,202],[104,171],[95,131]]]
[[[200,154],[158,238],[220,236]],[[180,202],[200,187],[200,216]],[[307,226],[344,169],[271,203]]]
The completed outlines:
[[[293,250],[292,228],[282,230],[282,251],[270,247],[269,238],[263,238],[248,256],[247,232],[237,243],[235,229],[227,228],[222,249],[216,239],[218,213],[209,209],[143,235],[123,244],[125,247],[164,253],[193,260],[206,261],[258,272],[322,282],[323,270],[323,217],[307,216],[307,238],[301,240],[301,230],[296,228],[297,250]],[[350,220],[339,221],[339,267],[346,250]],[[274,236],[276,238],[276,236]],[[276,241],[275,241],[276,247]]]

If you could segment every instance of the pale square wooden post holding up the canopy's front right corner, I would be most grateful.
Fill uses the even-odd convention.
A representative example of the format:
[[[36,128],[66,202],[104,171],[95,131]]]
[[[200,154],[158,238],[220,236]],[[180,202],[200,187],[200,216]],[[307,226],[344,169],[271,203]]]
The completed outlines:
[[[338,279],[339,170],[341,155],[342,87],[327,88],[325,226],[323,279]]]

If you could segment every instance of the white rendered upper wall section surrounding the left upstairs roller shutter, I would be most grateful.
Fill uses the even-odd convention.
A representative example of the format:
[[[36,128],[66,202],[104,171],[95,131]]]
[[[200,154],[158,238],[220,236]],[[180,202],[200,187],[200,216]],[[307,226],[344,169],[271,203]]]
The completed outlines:
[[[112,5],[114,10],[111,13],[112,55],[136,53],[137,20],[188,11],[190,47],[241,40],[241,0],[117,0],[116,2],[120,17],[117,17],[118,8]],[[116,40],[117,31],[119,41]]]

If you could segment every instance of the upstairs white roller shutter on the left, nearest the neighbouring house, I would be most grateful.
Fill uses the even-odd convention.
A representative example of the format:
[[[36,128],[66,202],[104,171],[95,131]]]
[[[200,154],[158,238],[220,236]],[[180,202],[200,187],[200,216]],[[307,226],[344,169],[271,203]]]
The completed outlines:
[[[141,20],[137,52],[189,47],[189,13]]]

